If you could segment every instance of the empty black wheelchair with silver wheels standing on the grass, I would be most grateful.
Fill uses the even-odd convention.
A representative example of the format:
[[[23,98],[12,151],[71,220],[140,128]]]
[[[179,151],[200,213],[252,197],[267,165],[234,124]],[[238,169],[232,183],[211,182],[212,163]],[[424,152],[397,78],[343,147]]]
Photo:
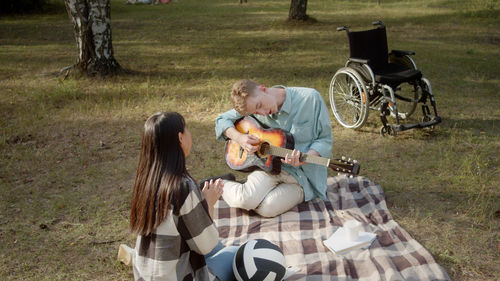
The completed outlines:
[[[382,21],[372,24],[377,27],[356,32],[346,26],[337,28],[347,32],[350,57],[330,82],[330,106],[335,118],[345,128],[358,129],[367,120],[369,110],[380,111],[382,136],[396,136],[413,128],[434,128],[441,118],[431,83],[410,57],[415,52],[389,53],[385,24]],[[422,108],[421,122],[402,122],[408,120],[418,104]],[[388,116],[395,119],[395,124],[389,124]]]

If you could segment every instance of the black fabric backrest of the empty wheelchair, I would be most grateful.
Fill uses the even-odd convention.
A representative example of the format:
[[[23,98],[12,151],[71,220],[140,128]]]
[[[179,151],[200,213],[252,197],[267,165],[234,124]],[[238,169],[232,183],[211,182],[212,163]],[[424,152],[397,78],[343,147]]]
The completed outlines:
[[[348,31],[351,58],[369,60],[372,69],[381,69],[388,64],[388,47],[385,27],[364,31]]]

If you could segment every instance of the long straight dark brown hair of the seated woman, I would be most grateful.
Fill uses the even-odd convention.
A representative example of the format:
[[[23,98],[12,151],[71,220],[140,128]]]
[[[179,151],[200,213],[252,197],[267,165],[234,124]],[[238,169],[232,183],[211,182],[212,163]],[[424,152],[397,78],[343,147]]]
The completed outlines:
[[[189,177],[179,142],[185,126],[176,112],[155,113],[144,124],[130,211],[133,233],[149,235],[167,217],[170,203],[180,198],[180,180]]]

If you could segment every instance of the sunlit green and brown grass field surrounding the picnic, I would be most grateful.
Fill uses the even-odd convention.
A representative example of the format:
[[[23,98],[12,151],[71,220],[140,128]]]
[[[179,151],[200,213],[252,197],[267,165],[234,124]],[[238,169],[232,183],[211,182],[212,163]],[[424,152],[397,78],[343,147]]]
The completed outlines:
[[[356,158],[396,221],[453,280],[500,279],[500,4],[496,0],[112,1],[116,59],[134,75],[44,76],[76,61],[64,9],[0,18],[0,280],[130,280],[128,232],[140,134],[156,111],[183,114],[195,178],[229,172],[214,119],[238,79],[318,89],[343,66],[353,30],[383,20],[412,50],[443,118],[434,131],[378,134],[331,116],[333,154]],[[243,174],[237,174],[243,177]]]

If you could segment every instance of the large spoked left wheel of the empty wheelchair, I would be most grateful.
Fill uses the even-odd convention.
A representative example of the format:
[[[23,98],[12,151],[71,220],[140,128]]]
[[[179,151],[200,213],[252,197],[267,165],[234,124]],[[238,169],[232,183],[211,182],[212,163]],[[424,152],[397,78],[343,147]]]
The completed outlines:
[[[339,69],[330,82],[330,106],[337,121],[356,129],[368,117],[368,94],[360,75],[350,67]]]

